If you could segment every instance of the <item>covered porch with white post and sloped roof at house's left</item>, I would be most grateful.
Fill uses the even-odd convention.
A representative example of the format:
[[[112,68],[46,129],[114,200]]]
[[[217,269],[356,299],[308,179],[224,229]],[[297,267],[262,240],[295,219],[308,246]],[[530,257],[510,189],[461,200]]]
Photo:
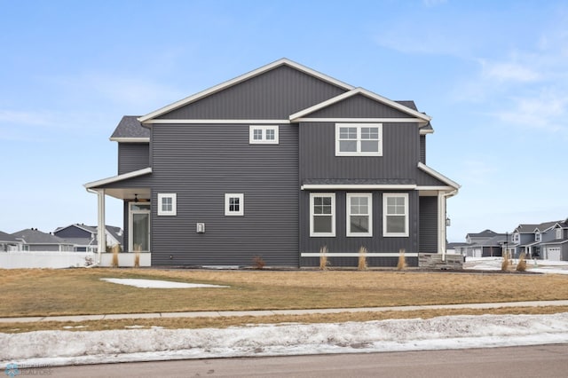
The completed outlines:
[[[143,185],[144,178],[152,173],[151,168],[139,169],[126,174],[104,178],[85,184],[90,193],[97,194],[99,266],[113,266],[113,253],[106,246],[106,196],[123,203],[124,244],[119,251],[119,266],[135,266],[135,256],[139,256],[139,266],[151,265],[151,214],[152,203],[149,186]],[[142,182],[140,182],[142,181]]]

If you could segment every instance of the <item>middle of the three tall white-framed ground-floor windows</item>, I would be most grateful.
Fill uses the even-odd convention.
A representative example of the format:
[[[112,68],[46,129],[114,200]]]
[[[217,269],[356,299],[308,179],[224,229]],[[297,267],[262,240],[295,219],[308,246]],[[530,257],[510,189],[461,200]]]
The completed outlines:
[[[373,236],[373,194],[347,193],[347,236]]]

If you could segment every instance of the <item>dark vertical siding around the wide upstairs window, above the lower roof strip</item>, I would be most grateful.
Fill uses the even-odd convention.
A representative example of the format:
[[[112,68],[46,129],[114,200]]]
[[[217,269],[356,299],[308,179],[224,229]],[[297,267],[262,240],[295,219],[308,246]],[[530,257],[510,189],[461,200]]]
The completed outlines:
[[[383,156],[335,156],[335,123],[300,124],[300,179],[416,178],[419,135],[414,123],[383,123]]]

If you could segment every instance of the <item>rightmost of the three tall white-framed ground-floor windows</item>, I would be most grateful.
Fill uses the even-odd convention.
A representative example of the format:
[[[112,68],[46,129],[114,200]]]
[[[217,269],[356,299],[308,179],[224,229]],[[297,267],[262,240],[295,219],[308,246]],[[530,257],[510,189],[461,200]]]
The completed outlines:
[[[408,236],[408,193],[383,194],[383,236]]]

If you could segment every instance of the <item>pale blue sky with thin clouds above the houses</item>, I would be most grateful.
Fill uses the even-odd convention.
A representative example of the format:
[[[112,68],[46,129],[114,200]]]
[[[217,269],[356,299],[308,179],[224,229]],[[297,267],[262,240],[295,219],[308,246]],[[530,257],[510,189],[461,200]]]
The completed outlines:
[[[566,1],[0,0],[0,230],[96,224],[108,138],[286,57],[433,117],[450,241],[568,217]],[[121,202],[106,223],[122,225]]]

